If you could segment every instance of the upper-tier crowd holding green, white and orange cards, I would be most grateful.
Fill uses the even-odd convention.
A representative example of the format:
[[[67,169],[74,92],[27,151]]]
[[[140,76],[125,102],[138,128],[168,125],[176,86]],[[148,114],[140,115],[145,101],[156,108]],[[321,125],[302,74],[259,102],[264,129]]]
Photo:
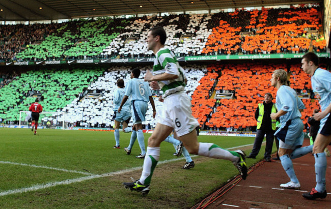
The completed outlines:
[[[150,57],[154,25],[167,28],[179,56],[325,52],[320,16],[314,6],[0,25],[0,62]]]

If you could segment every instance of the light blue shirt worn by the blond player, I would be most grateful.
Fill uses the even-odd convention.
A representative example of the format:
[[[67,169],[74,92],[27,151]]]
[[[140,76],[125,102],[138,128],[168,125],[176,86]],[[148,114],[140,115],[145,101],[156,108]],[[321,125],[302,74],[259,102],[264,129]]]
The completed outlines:
[[[282,85],[277,91],[276,106],[278,110],[284,110],[287,113],[280,117],[281,128],[287,121],[300,118],[299,109],[306,109],[304,103],[298,98],[296,92],[287,85]]]

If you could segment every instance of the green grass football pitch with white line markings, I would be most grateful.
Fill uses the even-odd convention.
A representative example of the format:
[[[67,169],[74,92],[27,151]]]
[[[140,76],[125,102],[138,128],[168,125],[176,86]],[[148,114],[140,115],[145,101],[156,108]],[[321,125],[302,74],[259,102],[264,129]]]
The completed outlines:
[[[181,169],[183,157],[161,143],[158,166],[148,195],[124,189],[141,175],[143,159],[135,142],[131,155],[123,150],[130,133],[40,129],[0,129],[1,208],[189,208],[238,174],[230,161],[192,156],[196,166]],[[145,134],[145,144],[150,134]],[[244,147],[252,137],[199,136],[200,142],[224,148]],[[244,148],[245,149],[245,148]],[[262,149],[264,149],[262,147]],[[245,150],[249,154],[251,150]],[[252,165],[263,158],[248,159]]]

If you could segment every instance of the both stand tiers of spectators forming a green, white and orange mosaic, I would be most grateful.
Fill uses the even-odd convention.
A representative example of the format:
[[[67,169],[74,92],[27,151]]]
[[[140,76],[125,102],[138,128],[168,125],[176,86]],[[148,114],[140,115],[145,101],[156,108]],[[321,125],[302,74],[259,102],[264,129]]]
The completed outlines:
[[[98,17],[63,23],[0,25],[0,63],[75,61],[88,59],[152,58],[146,38],[152,26],[163,26],[167,47],[178,58],[210,55],[302,54],[326,52],[319,6],[235,9],[217,14],[171,14],[131,18]],[[185,59],[186,60],[186,59]],[[152,62],[152,59],[150,60]],[[278,62],[279,63],[279,62]],[[69,64],[69,63],[68,63]],[[132,65],[132,64],[131,64]],[[141,65],[142,76],[150,63]],[[0,74],[0,118],[16,123],[36,97],[45,111],[61,111],[68,123],[82,127],[112,127],[116,80],[129,80],[130,65],[111,67],[27,68]],[[325,68],[326,66],[324,66]],[[289,72],[289,84],[307,109],[302,120],[318,109],[311,81],[300,64],[250,62],[185,63],[186,92],[192,112],[209,130],[252,130],[254,112],[270,86],[275,69]],[[157,108],[160,91],[153,91]],[[146,125],[154,126],[151,108]]]

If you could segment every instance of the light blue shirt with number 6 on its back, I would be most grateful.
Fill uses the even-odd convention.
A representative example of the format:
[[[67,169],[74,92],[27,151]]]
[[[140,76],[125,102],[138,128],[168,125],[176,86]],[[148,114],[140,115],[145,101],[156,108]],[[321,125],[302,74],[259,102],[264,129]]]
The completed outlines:
[[[144,82],[139,78],[132,78],[126,83],[125,95],[131,97],[131,100],[149,101],[149,96],[152,96],[148,82]]]

